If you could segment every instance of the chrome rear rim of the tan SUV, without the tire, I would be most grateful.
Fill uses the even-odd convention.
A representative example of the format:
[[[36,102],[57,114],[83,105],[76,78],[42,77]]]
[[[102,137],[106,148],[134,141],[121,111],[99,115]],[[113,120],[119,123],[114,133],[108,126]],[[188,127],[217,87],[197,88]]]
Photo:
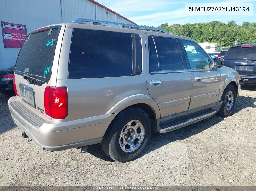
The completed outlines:
[[[130,153],[141,146],[144,138],[144,126],[138,120],[131,120],[122,129],[119,145],[122,151]]]

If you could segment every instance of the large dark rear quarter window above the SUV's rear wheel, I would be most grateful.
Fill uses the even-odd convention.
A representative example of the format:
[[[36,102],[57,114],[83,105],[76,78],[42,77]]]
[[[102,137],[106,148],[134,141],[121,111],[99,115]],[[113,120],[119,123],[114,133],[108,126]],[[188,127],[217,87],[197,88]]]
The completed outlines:
[[[138,34],[74,29],[69,79],[138,75],[142,69]]]

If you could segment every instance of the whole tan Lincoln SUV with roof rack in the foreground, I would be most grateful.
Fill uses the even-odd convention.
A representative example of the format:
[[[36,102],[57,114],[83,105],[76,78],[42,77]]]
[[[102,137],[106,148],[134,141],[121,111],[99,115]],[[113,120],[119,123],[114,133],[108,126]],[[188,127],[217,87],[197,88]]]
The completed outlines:
[[[76,19],[28,35],[8,105],[23,137],[43,149],[85,152],[101,143],[127,162],[145,150],[151,130],[231,115],[239,75],[223,64],[161,29]]]

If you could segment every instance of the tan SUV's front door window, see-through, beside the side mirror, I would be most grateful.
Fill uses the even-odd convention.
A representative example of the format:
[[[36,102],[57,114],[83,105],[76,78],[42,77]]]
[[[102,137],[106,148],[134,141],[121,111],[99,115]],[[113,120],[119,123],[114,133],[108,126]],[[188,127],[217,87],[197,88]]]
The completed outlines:
[[[184,47],[188,46],[191,47],[190,50],[186,49],[186,53],[188,55],[189,65],[191,69],[208,69],[210,68],[210,63],[208,60],[207,53],[198,46],[196,43],[188,41],[188,40],[181,40]]]

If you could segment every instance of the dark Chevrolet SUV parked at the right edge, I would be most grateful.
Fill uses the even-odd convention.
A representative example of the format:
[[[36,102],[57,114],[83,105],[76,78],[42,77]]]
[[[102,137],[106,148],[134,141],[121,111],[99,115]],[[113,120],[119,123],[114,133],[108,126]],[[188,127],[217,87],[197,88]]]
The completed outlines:
[[[224,60],[225,66],[238,71],[241,84],[256,85],[256,43],[231,46]]]

